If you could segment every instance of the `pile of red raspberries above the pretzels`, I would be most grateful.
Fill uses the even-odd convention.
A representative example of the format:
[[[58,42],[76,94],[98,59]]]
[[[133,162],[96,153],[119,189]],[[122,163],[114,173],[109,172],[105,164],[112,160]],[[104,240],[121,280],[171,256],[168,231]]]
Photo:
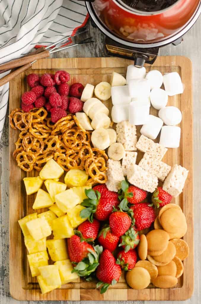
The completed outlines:
[[[66,71],[42,76],[29,74],[27,83],[32,89],[22,95],[22,110],[29,112],[33,108],[45,107],[53,123],[67,116],[67,111],[72,114],[81,112],[83,102],[80,97],[84,87],[78,82],[70,86],[68,81],[70,74]]]

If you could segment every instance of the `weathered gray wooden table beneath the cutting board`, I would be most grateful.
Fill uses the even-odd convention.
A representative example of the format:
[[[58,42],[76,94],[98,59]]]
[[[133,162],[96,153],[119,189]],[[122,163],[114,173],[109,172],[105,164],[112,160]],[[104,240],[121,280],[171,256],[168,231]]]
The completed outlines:
[[[91,26],[90,36],[93,36],[95,43],[72,48],[69,51],[63,51],[56,54],[56,57],[101,57],[104,56],[104,36],[98,29]],[[182,55],[189,57],[193,64],[193,90],[194,90],[194,219],[195,219],[195,290],[191,299],[185,303],[200,303],[201,290],[199,289],[199,277],[201,271],[201,206],[200,188],[201,188],[201,18],[196,22],[195,26],[184,36],[184,41],[177,47],[173,45],[166,46],[160,50],[159,55]],[[0,142],[0,174],[1,174],[1,204],[0,204],[0,304],[14,304],[18,302],[11,298],[9,294],[9,134],[8,134],[8,118],[6,120],[1,142]],[[16,285],[18,282],[16,282]],[[95,300],[95,299],[94,299]],[[85,302],[85,301],[84,301]],[[121,301],[120,304],[124,304]],[[177,301],[175,303],[182,303]],[[27,301],[28,303],[28,301]],[[35,302],[39,304],[40,302]],[[47,302],[48,303],[48,302]],[[55,304],[58,302],[54,302]],[[75,304],[79,304],[76,301]],[[110,304],[114,302],[111,301]],[[129,301],[129,304],[132,301]],[[135,302],[142,304],[143,301]],[[154,303],[146,301],[145,304]],[[173,302],[162,301],[161,304],[171,304]],[[30,304],[34,302],[30,301]],[[49,302],[53,304],[53,302]],[[62,303],[63,304],[63,303]],[[101,302],[104,304],[104,302]],[[109,304],[108,302],[105,304]],[[115,303],[116,304],[116,303]],[[144,304],[144,303],[143,303]]]

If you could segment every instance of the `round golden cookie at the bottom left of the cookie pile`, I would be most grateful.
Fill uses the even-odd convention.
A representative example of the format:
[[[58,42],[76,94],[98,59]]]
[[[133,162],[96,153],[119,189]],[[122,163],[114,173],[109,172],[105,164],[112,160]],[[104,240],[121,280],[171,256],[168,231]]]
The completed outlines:
[[[127,272],[126,281],[131,288],[139,290],[146,288],[150,284],[151,277],[145,268],[135,267]]]

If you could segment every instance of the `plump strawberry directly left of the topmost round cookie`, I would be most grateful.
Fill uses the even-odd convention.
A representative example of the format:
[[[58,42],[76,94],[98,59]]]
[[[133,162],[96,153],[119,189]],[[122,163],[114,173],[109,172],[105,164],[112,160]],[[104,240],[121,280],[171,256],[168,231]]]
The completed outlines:
[[[149,203],[137,203],[131,206],[130,209],[134,212],[135,228],[138,231],[149,228],[155,221],[155,210],[149,206]]]

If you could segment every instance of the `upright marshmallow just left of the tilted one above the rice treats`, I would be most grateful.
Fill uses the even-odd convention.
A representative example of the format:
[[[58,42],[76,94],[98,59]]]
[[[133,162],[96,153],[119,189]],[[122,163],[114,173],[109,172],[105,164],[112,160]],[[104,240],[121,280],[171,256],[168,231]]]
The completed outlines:
[[[149,120],[149,105],[133,101],[129,105],[128,121],[132,125],[143,125]]]

